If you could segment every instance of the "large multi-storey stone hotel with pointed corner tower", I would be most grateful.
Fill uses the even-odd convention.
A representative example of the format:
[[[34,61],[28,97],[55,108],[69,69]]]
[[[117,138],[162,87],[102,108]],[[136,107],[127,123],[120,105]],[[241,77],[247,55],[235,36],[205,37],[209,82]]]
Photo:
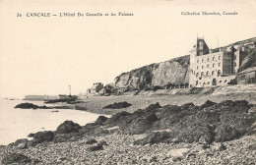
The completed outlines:
[[[204,38],[197,42],[190,51],[190,87],[225,85],[235,78],[239,69],[240,49],[228,48],[209,49]]]

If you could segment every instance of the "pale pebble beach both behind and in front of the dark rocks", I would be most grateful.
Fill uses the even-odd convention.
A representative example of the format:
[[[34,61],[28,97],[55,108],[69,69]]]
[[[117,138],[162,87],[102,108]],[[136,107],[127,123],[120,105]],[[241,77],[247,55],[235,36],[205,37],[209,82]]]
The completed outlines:
[[[183,99],[182,99],[183,98]],[[121,111],[134,112],[152,103],[160,102],[161,105],[182,105],[193,102],[202,105],[206,100],[220,103],[229,100],[246,99],[254,105],[250,111],[255,112],[255,94],[232,96],[212,95],[166,95],[166,96],[107,96],[87,98],[84,109],[89,112],[101,114],[115,114]],[[124,109],[103,109],[102,107],[113,102],[127,101],[132,104]],[[110,113],[111,112],[111,113]],[[214,141],[209,147],[202,142],[176,142],[147,143],[145,145],[135,144],[134,141],[147,137],[147,134],[128,135],[119,130],[118,127],[104,128],[111,134],[84,135],[82,138],[74,138],[70,141],[57,142],[44,141],[35,146],[25,145],[1,145],[0,162],[6,159],[6,155],[16,153],[29,159],[27,163],[21,164],[249,164],[256,162],[256,137],[245,135],[241,138],[217,142]],[[154,132],[162,132],[154,131]],[[153,131],[152,131],[153,132]],[[149,132],[148,132],[149,134]],[[88,143],[90,139],[96,140]],[[100,141],[104,144],[97,147]],[[19,156],[18,156],[19,157]],[[7,163],[8,164],[8,163]],[[18,163],[19,164],[19,163]]]

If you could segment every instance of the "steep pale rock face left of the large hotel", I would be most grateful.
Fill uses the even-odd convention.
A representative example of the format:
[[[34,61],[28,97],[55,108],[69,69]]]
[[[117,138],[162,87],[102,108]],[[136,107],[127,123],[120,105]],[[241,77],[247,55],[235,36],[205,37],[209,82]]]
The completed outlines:
[[[153,86],[188,83],[189,56],[178,57],[159,64],[145,66],[116,77],[114,85],[135,89],[146,89]]]

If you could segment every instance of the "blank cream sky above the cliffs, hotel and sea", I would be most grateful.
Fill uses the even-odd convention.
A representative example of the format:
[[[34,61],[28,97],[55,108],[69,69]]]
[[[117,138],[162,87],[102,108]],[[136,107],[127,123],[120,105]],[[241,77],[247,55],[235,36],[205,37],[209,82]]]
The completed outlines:
[[[210,48],[256,36],[255,0],[0,0],[0,94],[85,93],[124,72],[189,54],[197,35]],[[182,16],[181,12],[236,12]],[[49,12],[58,17],[32,18]],[[132,13],[59,17],[59,13]],[[17,17],[21,13],[22,17]]]

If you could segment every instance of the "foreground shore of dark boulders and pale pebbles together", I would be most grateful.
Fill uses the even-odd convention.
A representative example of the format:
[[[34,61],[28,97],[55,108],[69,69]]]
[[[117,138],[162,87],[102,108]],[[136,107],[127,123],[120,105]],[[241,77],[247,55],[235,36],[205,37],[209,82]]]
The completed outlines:
[[[254,164],[255,106],[152,104],[79,126],[65,121],[0,147],[2,164]]]

